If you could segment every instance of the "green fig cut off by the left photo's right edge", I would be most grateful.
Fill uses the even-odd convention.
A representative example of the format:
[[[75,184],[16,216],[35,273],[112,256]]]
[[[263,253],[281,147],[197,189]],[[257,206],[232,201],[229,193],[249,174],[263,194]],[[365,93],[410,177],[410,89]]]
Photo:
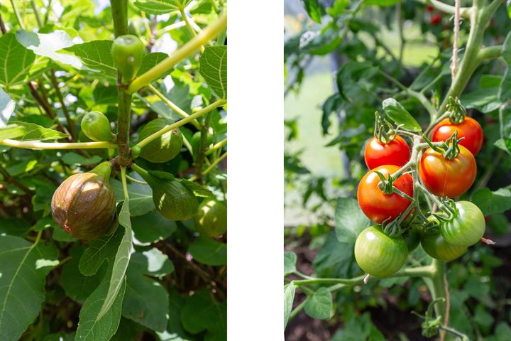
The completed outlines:
[[[227,207],[224,202],[205,199],[194,216],[195,226],[200,234],[218,237],[227,232]]]

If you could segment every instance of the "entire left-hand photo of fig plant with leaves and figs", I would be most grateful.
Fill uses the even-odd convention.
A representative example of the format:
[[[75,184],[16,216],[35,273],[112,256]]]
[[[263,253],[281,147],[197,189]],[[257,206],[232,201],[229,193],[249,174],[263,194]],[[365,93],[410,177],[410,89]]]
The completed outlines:
[[[226,340],[226,6],[2,2],[0,340]]]

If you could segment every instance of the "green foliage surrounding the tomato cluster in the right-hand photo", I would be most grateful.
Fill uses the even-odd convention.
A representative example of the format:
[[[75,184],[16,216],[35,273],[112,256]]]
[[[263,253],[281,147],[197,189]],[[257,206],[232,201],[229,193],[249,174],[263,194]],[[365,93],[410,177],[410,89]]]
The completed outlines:
[[[510,6],[502,4],[503,1],[474,2],[492,17],[482,18],[488,20],[488,27],[479,32],[475,44],[478,48],[473,48],[473,39],[468,34],[473,27],[471,20],[476,19],[468,18],[463,7],[458,46],[462,47],[459,65],[466,68],[458,70],[461,81],[451,87],[454,1],[441,6],[433,4],[431,10],[424,2],[304,1],[310,20],[307,25],[300,23],[302,31],[285,41],[286,94],[300,94],[302,82],[312,72],[308,69],[310,60],[315,56],[329,55],[336,67],[334,93],[319,103],[322,116],[317,121],[330,141],[324,148],[337,148],[345,160],[344,169],[335,170],[344,173],[344,177],[315,174],[303,160],[303,151],[285,148],[286,188],[293,188],[304,197],[301,208],[314,217],[312,224],[285,231],[285,276],[291,274],[287,277],[290,283],[285,286],[288,299],[285,317],[291,317],[288,330],[295,328],[292,318],[303,309],[311,318],[328,320],[324,328],[338,328],[333,340],[383,339],[378,329],[385,339],[419,340],[413,330],[420,330],[423,322],[420,318],[408,315],[407,323],[394,323],[389,313],[423,314],[427,310],[432,301],[427,289],[438,288],[439,283],[416,277],[429,276],[423,266],[432,264],[432,259],[422,247],[417,247],[398,273],[400,277],[370,280],[362,285],[363,271],[356,264],[353,247],[358,234],[370,222],[356,205],[353,192],[366,173],[363,151],[374,134],[376,110],[395,126],[402,125],[402,129],[426,131],[429,124],[444,114],[447,99],[453,95],[460,97],[468,115],[480,122],[485,136],[483,148],[476,156],[476,181],[461,199],[480,207],[488,219],[485,236],[495,239],[497,245],[493,248],[476,245],[460,259],[446,264],[451,293],[449,326],[471,340],[501,340],[502,332],[510,328],[507,319],[510,310],[503,302],[511,283],[502,275],[508,271],[505,236],[510,233],[507,211],[511,204],[507,195],[510,183],[507,174],[511,169],[509,96],[504,95],[511,91],[507,80],[511,40],[502,32],[511,28]],[[461,2],[461,6],[470,5],[471,2]],[[441,18],[438,25],[432,20],[436,15]],[[408,40],[407,29],[419,30],[419,38]],[[386,38],[388,35],[390,38]],[[396,45],[394,40],[399,43]],[[410,63],[406,55],[417,45],[434,46],[437,53],[432,58],[422,58],[427,61],[419,64]],[[287,144],[300,139],[299,120],[300,117],[285,122]],[[425,198],[421,200],[427,205]],[[325,215],[325,211],[331,213]],[[309,268],[303,258],[309,259],[311,254],[312,271],[302,274],[302,266]],[[435,262],[434,265],[443,266]],[[307,309],[312,304],[309,302],[319,301],[317,296],[325,297],[322,295],[325,288],[332,295],[332,305],[325,300],[323,314]],[[474,289],[479,291],[478,295]],[[289,303],[292,297],[297,300],[294,305]],[[436,313],[441,311],[438,307],[442,304],[434,304]],[[381,310],[385,310],[385,316],[389,314],[388,319],[378,320]],[[361,329],[361,325],[366,326]],[[373,329],[375,335],[368,335]],[[431,330],[436,335],[439,325]]]

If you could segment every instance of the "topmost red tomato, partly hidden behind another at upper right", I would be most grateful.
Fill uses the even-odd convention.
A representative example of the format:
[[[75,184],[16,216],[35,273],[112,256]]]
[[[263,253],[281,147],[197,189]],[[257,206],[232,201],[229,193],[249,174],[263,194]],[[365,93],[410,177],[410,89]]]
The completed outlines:
[[[449,119],[442,119],[432,130],[432,141],[446,141],[454,131],[458,131],[458,139],[465,138],[459,144],[471,151],[473,156],[476,156],[480,147],[483,146],[483,129],[481,129],[478,121],[471,117],[465,117],[463,123],[453,124]]]

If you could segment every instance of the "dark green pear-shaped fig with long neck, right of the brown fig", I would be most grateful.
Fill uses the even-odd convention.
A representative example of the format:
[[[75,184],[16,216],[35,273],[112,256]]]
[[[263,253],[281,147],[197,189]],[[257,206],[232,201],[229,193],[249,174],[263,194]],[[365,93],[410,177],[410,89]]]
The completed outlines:
[[[197,197],[170,173],[145,171],[132,165],[132,168],[147,181],[153,190],[153,202],[163,217],[169,220],[188,220],[199,207]]]

